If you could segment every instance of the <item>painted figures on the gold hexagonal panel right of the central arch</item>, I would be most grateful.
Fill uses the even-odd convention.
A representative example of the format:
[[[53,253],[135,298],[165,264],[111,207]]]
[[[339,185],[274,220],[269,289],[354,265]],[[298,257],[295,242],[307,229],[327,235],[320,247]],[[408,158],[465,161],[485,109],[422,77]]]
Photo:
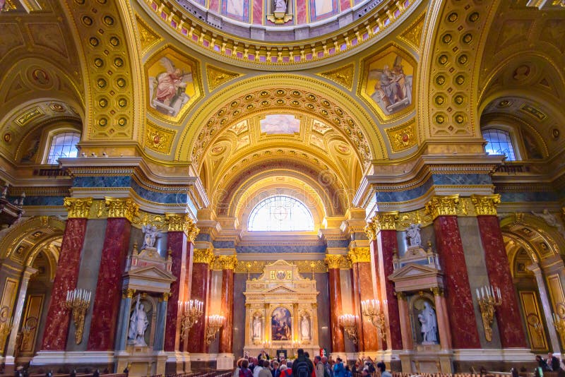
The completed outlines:
[[[371,98],[379,104],[386,115],[412,103],[412,75],[406,75],[402,58],[396,55],[392,69],[388,64],[383,68],[369,70],[369,80],[376,80]]]

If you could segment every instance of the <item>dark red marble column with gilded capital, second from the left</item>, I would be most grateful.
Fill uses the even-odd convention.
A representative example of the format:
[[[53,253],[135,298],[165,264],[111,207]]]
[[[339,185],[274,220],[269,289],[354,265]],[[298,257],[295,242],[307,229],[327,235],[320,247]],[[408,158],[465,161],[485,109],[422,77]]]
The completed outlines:
[[[121,275],[129,247],[131,220],[138,205],[131,198],[105,198],[106,234],[90,323],[88,351],[109,351],[114,339],[121,299]]]

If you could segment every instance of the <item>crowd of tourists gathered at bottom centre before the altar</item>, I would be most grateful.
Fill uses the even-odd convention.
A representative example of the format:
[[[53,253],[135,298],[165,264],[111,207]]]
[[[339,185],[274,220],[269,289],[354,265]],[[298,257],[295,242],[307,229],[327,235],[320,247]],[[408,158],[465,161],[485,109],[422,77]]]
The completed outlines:
[[[375,375],[376,369],[381,371],[381,377],[392,377],[383,362],[375,365],[370,358],[359,359],[350,367],[340,357],[334,360],[316,355],[311,359],[301,348],[295,360],[272,359],[265,351],[257,357],[243,357],[237,361],[233,377],[369,377]]]

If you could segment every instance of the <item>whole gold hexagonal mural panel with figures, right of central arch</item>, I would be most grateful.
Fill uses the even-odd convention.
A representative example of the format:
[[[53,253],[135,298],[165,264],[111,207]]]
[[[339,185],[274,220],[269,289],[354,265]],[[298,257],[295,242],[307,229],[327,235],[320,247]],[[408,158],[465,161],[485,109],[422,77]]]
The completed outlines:
[[[411,109],[415,63],[395,47],[364,61],[361,95],[383,116]]]

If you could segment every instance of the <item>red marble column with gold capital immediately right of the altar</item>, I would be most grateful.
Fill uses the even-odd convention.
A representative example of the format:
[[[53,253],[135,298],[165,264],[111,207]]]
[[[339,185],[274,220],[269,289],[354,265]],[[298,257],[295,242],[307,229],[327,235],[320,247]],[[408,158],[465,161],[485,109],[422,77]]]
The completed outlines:
[[[330,325],[331,325],[331,352],[345,353],[345,338],[340,327],[339,318],[343,314],[341,304],[341,279],[340,265],[345,264],[345,257],[340,255],[326,255],[328,265],[328,284],[330,286]]]

